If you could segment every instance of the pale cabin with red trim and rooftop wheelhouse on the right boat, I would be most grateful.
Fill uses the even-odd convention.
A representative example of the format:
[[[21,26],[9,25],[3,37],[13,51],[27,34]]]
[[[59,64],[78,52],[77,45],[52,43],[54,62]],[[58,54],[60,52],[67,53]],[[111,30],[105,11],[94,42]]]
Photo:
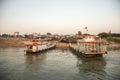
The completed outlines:
[[[84,54],[104,54],[107,52],[106,41],[95,39],[94,35],[84,36],[82,40],[78,40],[78,50]]]

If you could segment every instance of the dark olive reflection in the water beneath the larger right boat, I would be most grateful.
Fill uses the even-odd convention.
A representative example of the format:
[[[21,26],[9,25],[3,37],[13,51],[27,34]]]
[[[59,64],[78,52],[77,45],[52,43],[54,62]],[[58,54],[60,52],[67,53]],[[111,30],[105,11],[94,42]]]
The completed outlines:
[[[101,57],[78,59],[77,67],[83,72],[105,72],[106,61]]]

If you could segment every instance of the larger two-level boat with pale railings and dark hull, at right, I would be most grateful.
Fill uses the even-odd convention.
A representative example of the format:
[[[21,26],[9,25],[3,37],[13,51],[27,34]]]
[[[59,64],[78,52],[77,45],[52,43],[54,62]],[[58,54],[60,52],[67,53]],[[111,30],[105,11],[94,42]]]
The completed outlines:
[[[77,40],[77,45],[70,43],[70,48],[84,57],[102,56],[107,53],[106,41],[95,39],[94,35],[86,35],[83,39]]]

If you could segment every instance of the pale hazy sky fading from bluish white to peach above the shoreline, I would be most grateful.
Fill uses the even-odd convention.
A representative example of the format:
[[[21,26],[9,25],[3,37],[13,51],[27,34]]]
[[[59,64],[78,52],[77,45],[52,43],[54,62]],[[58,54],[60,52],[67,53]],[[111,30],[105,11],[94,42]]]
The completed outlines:
[[[120,33],[120,0],[0,0],[0,34]]]

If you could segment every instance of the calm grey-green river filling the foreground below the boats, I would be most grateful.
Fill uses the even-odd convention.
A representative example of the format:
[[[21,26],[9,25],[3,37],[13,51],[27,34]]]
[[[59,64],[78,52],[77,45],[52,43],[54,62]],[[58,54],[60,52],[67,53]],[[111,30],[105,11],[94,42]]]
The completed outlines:
[[[26,55],[24,48],[0,48],[0,80],[120,80],[120,50],[84,58],[54,49]]]

